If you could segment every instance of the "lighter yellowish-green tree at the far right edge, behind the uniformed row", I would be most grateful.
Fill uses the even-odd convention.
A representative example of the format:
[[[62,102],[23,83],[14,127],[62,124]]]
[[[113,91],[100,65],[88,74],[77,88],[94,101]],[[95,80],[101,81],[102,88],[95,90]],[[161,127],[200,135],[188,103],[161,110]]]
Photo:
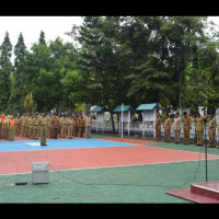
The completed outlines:
[[[187,64],[184,105],[198,110],[207,106],[212,113],[219,107],[219,56],[215,44],[198,48],[193,62]]]

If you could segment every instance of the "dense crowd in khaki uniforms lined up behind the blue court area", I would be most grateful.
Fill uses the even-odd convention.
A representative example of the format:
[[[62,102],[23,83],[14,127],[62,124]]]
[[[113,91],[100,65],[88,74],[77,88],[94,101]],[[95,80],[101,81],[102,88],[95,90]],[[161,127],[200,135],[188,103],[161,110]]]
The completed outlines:
[[[69,138],[83,137],[85,131],[85,137],[90,138],[92,119],[90,114],[83,117],[80,115],[50,115],[46,117],[45,113],[18,116],[13,118],[13,127],[10,127],[8,117],[3,114],[1,115],[0,124],[0,138],[9,139],[9,130],[13,129],[14,136],[20,136],[23,138],[38,139],[43,135],[43,138]]]

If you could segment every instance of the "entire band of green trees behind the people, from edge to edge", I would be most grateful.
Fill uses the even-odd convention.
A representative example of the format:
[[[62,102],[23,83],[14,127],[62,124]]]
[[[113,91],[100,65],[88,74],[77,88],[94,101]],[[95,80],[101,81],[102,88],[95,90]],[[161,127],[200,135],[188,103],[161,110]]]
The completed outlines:
[[[84,16],[69,31],[74,43],[46,42],[31,50],[22,33],[0,44],[0,111],[74,111],[82,103],[219,106],[218,33],[206,16]],[[78,47],[76,45],[79,45]],[[12,50],[14,60],[11,60]]]

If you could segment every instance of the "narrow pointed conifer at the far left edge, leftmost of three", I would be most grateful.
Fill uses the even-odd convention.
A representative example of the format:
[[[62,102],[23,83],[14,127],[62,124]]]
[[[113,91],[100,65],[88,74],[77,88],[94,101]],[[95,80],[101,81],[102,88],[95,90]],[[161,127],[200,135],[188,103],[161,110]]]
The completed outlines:
[[[13,71],[13,66],[11,64],[12,45],[8,32],[0,46],[0,111],[5,113],[8,101],[11,95],[10,74]]]

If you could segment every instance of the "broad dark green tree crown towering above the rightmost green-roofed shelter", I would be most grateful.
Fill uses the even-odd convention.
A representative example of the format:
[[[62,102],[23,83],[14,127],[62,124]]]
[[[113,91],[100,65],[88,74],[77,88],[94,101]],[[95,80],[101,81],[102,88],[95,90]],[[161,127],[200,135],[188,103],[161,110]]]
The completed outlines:
[[[180,80],[183,85],[186,64],[205,39],[205,18],[127,16],[120,20],[120,45],[129,65],[128,96],[138,103],[177,106],[182,92]]]

